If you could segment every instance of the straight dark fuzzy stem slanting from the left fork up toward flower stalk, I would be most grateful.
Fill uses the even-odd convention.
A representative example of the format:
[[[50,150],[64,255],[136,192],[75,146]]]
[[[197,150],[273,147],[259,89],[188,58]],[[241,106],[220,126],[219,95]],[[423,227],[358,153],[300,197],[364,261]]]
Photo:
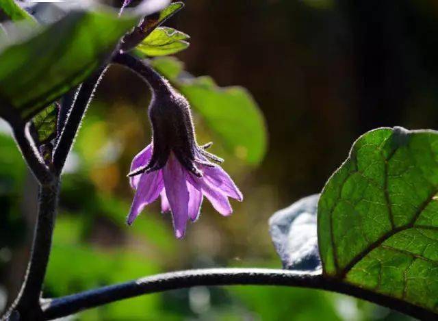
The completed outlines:
[[[73,142],[75,141],[77,129],[79,129],[83,115],[86,113],[94,91],[99,85],[99,81],[101,81],[105,70],[106,66],[97,70],[92,77],[83,82],[79,89],[79,93],[62,129],[61,136],[53,151],[53,166],[58,175],[62,171],[62,168],[64,168],[67,155],[70,153],[71,146],[73,146]]]

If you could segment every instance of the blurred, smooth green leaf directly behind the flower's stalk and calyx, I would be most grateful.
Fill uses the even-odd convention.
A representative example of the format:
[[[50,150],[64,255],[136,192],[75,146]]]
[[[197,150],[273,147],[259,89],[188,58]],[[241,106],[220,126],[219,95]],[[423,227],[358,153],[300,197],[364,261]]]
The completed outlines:
[[[218,87],[211,77],[190,77],[175,58],[155,59],[153,66],[167,77],[222,140],[224,146],[249,164],[258,164],[266,153],[267,133],[263,114],[242,87]]]

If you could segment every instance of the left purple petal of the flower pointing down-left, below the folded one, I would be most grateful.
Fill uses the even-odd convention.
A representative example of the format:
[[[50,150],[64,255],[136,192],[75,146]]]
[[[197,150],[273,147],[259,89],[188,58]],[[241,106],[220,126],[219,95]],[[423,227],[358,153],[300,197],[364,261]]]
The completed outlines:
[[[144,209],[146,205],[151,204],[157,199],[159,193],[164,188],[163,175],[161,170],[156,170],[149,174],[139,175],[140,182],[138,183],[138,190],[129,211],[127,223],[129,225],[137,218],[138,214]]]

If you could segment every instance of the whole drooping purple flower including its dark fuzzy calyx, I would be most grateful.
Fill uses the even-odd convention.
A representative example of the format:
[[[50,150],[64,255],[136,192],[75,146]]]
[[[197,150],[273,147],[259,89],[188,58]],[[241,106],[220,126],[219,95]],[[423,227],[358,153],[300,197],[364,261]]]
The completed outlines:
[[[154,79],[159,84],[151,86],[149,119],[153,141],[131,164],[128,176],[136,195],[127,223],[132,224],[144,207],[160,196],[162,211],[171,212],[175,236],[181,238],[187,222],[198,219],[203,196],[223,216],[233,211],[228,198],[242,201],[243,196],[227,172],[211,162],[222,162],[206,151],[211,143],[196,143],[188,101],[161,76],[147,72],[149,84],[154,84]]]

